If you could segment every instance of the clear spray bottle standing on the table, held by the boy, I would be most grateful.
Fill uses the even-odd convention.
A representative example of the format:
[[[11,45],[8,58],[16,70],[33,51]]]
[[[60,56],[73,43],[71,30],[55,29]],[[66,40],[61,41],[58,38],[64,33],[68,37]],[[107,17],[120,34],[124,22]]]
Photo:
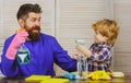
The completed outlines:
[[[76,39],[75,44],[84,45],[83,39]],[[78,75],[79,79],[87,79],[87,57],[82,52],[79,52],[78,56]]]

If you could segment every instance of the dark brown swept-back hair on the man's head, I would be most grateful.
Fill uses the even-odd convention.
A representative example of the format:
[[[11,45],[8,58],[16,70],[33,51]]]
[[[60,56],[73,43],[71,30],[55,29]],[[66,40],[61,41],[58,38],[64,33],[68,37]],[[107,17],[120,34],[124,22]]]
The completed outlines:
[[[28,16],[28,13],[41,13],[41,8],[38,4],[32,4],[32,3],[25,3],[22,4],[17,11],[16,19],[23,19],[26,20]]]

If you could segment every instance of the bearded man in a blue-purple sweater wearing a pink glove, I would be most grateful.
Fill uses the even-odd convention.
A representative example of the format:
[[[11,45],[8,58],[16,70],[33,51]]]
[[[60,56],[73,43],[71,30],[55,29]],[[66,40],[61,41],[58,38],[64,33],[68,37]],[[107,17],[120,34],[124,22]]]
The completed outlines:
[[[5,76],[55,76],[53,63],[69,72],[76,70],[76,60],[68,55],[55,37],[40,32],[41,8],[38,4],[22,4],[16,17],[24,31],[10,36],[4,43],[0,68]],[[19,49],[23,45],[28,54],[20,55]]]

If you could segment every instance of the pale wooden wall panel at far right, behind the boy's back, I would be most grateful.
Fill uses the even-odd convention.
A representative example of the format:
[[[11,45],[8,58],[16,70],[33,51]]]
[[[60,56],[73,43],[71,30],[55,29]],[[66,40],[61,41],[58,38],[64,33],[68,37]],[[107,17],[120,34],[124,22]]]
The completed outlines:
[[[131,0],[115,0],[115,20],[120,25],[120,35],[115,46],[115,71],[131,76]]]

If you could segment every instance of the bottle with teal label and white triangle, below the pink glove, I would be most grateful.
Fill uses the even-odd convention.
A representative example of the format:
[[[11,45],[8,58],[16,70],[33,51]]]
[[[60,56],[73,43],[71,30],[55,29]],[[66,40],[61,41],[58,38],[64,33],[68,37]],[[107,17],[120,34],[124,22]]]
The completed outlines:
[[[16,59],[17,59],[17,62],[20,64],[26,64],[28,62],[31,62],[31,54],[29,54],[29,50],[28,48],[22,44],[19,49],[17,49],[17,54],[16,54]]]

